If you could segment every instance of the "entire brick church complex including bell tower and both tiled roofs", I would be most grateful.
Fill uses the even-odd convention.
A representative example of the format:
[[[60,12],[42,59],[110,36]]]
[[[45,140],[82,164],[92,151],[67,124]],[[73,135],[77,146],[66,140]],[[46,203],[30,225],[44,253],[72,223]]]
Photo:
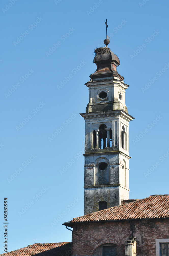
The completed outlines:
[[[63,223],[72,243],[33,244],[2,255],[169,256],[169,195],[129,199],[129,115],[119,58],[95,49],[86,83],[84,216]],[[69,228],[67,228],[69,229]]]

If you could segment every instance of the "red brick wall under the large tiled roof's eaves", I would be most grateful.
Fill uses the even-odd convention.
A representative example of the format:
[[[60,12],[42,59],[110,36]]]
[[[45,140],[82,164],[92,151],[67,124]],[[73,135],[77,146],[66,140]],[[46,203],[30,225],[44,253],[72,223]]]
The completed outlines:
[[[125,255],[125,240],[137,238],[137,256],[156,256],[156,239],[169,239],[169,219],[80,223],[74,225],[73,255],[93,255],[105,243],[116,244],[117,256]]]

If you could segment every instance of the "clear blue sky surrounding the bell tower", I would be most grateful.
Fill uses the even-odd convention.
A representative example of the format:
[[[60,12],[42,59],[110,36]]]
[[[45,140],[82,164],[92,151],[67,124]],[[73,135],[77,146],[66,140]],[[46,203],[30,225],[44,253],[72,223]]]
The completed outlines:
[[[96,70],[93,50],[105,39],[106,19],[109,46],[121,63],[118,72],[130,85],[126,105],[135,117],[130,122],[130,198],[169,194],[169,3],[140,3],[1,1],[0,253],[5,197],[8,251],[71,241],[62,223],[83,215],[85,121],[79,113],[89,101],[84,84]],[[58,135],[50,140],[56,129]]]

